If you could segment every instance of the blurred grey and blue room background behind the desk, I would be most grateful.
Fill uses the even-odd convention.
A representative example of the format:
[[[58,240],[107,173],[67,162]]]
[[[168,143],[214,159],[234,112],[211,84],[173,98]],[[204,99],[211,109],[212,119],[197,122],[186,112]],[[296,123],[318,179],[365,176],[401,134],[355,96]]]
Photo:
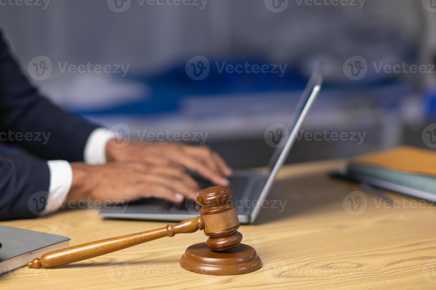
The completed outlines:
[[[287,123],[320,60],[324,87],[302,133],[347,133],[348,140],[302,137],[288,162],[398,144],[428,148],[422,133],[436,123],[436,1],[335,3],[0,0],[0,29],[24,73],[55,103],[102,126],[125,123],[136,139],[188,132],[185,142],[200,144],[193,137],[201,132],[234,168],[268,163],[274,148],[266,129]],[[356,56],[367,62],[358,77],[347,71],[358,69]],[[41,57],[51,62],[42,77],[31,71]],[[428,70],[377,70],[403,62]],[[237,65],[249,68],[231,70]]]

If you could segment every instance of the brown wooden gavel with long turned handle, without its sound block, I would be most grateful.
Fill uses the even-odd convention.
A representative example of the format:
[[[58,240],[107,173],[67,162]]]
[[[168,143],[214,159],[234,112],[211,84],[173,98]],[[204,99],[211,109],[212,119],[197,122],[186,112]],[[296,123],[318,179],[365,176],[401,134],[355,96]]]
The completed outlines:
[[[204,234],[209,237],[206,242],[207,246],[212,251],[232,249],[238,246],[242,240],[242,234],[237,231],[240,224],[235,203],[230,200],[232,194],[232,190],[227,187],[209,187],[202,190],[197,197],[197,202],[202,206],[200,208],[201,217],[190,218],[174,225],[168,224],[166,227],[156,230],[147,230],[55,250],[45,253],[41,258],[33,259],[27,263],[27,266],[29,268],[58,267],[112,253],[151,240],[174,237],[177,233],[194,233],[203,229]],[[260,260],[258,263],[260,267]]]

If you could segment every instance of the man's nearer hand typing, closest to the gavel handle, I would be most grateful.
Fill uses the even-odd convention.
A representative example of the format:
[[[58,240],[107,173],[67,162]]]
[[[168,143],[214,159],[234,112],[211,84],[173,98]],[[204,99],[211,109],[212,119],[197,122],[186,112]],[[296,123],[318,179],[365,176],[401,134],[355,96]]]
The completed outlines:
[[[73,182],[67,200],[137,200],[158,197],[179,203],[198,191],[181,166],[119,162],[99,166],[71,163]]]

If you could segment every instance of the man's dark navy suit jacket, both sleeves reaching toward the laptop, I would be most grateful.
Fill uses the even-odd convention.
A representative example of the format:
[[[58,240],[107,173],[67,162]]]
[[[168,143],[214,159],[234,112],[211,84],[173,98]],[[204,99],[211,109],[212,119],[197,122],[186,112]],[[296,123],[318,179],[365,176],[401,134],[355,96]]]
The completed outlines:
[[[0,32],[0,142],[47,160],[83,161],[86,141],[96,128],[42,97]],[[0,220],[38,216],[49,187],[47,162],[0,159]]]

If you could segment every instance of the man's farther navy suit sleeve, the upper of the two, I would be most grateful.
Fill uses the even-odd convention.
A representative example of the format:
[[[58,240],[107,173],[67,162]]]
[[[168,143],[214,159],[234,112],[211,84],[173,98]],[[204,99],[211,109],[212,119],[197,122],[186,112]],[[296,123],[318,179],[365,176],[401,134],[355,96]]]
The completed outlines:
[[[0,33],[0,140],[44,159],[83,161],[85,143],[97,127],[41,97]]]

